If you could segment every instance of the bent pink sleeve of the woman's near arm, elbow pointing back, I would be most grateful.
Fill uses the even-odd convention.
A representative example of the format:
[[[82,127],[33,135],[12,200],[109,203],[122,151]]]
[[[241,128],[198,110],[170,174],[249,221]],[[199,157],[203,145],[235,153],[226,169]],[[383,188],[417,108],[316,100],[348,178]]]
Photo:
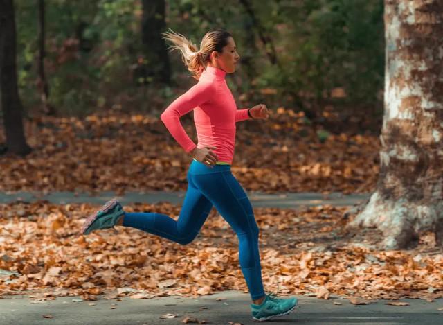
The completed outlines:
[[[190,152],[197,146],[186,134],[183,125],[181,125],[180,117],[205,103],[209,98],[211,98],[210,85],[197,83],[185,94],[174,100],[160,116],[172,137],[186,152]]]

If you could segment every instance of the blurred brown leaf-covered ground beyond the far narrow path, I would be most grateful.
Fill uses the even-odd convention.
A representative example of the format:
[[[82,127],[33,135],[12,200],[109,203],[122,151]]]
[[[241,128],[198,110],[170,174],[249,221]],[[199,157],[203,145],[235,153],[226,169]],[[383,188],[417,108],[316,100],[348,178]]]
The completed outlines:
[[[183,116],[196,141],[190,115]],[[379,139],[329,134],[302,113],[280,108],[268,121],[237,123],[233,173],[248,191],[370,192]],[[26,158],[0,157],[0,191],[186,190],[191,157],[159,118],[109,113],[26,121]],[[0,143],[4,141],[0,126]]]

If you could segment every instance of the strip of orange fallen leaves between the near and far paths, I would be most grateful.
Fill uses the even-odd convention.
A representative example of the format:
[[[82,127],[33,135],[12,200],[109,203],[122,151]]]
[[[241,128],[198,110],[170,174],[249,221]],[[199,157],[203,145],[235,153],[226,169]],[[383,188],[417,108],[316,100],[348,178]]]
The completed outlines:
[[[196,240],[179,245],[125,227],[118,227],[119,234],[105,230],[79,236],[84,218],[97,208],[0,204],[0,269],[13,273],[0,276],[0,292],[28,292],[39,299],[141,299],[246,291],[237,237],[215,209]],[[177,218],[180,207],[134,204],[125,210]],[[255,209],[266,290],[324,299],[331,294],[352,299],[443,296],[443,254],[432,236],[423,236],[410,251],[383,252],[377,249],[376,231],[343,230],[344,210]]]

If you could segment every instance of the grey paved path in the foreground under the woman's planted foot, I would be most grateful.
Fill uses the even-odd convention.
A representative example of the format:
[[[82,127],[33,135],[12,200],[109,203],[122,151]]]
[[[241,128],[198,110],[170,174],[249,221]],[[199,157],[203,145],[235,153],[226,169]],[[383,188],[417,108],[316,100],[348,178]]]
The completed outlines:
[[[226,300],[217,301],[225,297]],[[333,296],[334,297],[334,296]],[[206,320],[208,324],[244,325],[257,324],[249,312],[249,296],[237,291],[219,292],[198,299],[161,297],[155,299],[129,299],[123,301],[99,299],[97,301],[73,302],[78,297],[60,297],[54,301],[30,304],[26,297],[8,296],[0,299],[0,324],[183,324],[183,317]],[[387,301],[355,306],[347,299],[334,297],[323,300],[315,297],[299,297],[295,312],[275,317],[265,324],[443,324],[443,299],[428,303],[423,300],[402,299],[410,306],[389,306]],[[339,302],[341,305],[336,305]],[[89,304],[95,304],[89,306]],[[111,305],[115,304],[115,305]],[[115,309],[111,309],[114,307]],[[161,319],[167,313],[178,314],[174,319]],[[52,315],[46,319],[43,315]]]

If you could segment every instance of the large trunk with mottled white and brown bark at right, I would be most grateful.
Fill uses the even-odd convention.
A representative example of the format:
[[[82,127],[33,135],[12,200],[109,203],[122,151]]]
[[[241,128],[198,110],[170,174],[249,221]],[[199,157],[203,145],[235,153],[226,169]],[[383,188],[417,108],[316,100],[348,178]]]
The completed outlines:
[[[377,190],[351,227],[386,249],[443,241],[443,1],[385,0],[386,69]]]

